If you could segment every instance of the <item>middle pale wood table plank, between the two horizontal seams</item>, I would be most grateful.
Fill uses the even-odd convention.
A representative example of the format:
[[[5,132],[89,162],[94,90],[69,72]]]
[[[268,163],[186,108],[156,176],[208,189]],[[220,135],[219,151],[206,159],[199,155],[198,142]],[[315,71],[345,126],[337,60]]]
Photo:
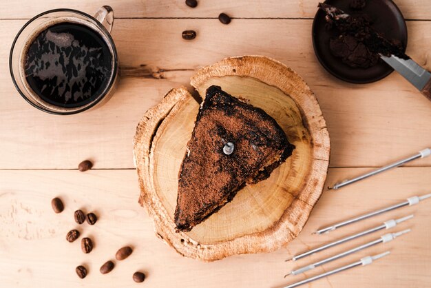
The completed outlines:
[[[329,76],[313,53],[311,20],[238,19],[220,26],[205,19],[117,19],[113,37],[127,73],[106,105],[66,117],[35,110],[14,89],[8,53],[25,21],[1,23],[0,41],[5,43],[0,46],[2,169],[76,169],[89,157],[96,169],[132,168],[132,138],[143,113],[171,88],[187,85],[192,70],[244,53],[271,56],[310,85],[331,134],[332,167],[377,167],[431,143],[430,101],[396,73],[367,85]],[[181,39],[182,30],[197,26],[196,41]],[[428,69],[430,30],[431,22],[408,23],[408,54]],[[48,156],[41,153],[47,141],[51,144]],[[430,164],[428,158],[409,165]]]

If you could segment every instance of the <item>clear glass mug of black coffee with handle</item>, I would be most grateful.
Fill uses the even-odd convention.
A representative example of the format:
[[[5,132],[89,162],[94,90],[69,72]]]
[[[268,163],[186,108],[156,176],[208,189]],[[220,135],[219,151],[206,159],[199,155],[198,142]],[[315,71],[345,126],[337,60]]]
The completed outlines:
[[[105,103],[118,79],[109,32],[114,12],[94,17],[72,9],[43,12],[26,23],[10,50],[12,81],[23,98],[51,114],[75,114]]]

